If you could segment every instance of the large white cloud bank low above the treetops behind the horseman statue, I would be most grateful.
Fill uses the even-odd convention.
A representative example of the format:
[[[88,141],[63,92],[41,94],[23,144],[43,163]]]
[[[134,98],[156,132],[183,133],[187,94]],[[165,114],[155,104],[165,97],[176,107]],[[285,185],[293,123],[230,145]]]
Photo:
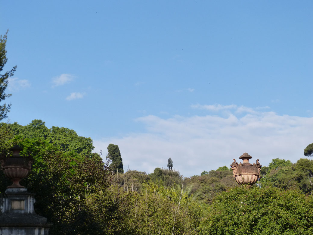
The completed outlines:
[[[235,109],[237,106],[214,107],[223,110],[222,107]],[[171,157],[174,168],[186,177],[229,166],[233,158],[239,161],[244,152],[253,157],[252,163],[260,159],[264,166],[274,158],[292,162],[304,158],[303,149],[313,142],[313,132],[309,131],[313,129],[313,118],[247,111],[240,118],[236,117],[236,109],[226,118],[216,114],[137,118],[137,122],[146,126],[145,133],[94,140],[95,151],[106,151],[110,143],[117,144],[124,166],[129,164],[131,170],[147,173],[156,167],[166,168]]]

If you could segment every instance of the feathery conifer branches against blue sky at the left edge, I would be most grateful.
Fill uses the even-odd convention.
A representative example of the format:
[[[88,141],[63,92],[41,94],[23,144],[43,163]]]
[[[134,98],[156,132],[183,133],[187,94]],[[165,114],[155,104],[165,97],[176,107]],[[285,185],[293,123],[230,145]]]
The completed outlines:
[[[5,46],[7,43],[8,31],[2,36],[0,35],[0,72],[3,70],[4,65],[7,63],[7,50]],[[8,86],[8,78],[13,76],[17,66],[14,66],[11,70],[6,71],[4,74],[0,74],[0,102],[5,100],[5,98],[10,97],[12,94],[4,93]],[[7,118],[7,113],[10,112],[11,104],[4,103],[0,105],[0,120]]]

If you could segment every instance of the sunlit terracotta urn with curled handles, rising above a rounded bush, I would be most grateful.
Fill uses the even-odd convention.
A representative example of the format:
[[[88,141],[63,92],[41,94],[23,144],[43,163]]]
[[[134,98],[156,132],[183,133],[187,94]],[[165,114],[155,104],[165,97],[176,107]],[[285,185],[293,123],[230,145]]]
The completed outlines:
[[[249,159],[251,158],[249,154],[244,153],[239,157],[239,159],[243,160],[243,163],[240,162],[238,164],[233,159],[233,163],[230,165],[233,170],[233,177],[235,177],[236,182],[240,185],[253,185],[260,178],[262,165],[259,163],[259,159],[256,160],[256,163],[249,163]]]

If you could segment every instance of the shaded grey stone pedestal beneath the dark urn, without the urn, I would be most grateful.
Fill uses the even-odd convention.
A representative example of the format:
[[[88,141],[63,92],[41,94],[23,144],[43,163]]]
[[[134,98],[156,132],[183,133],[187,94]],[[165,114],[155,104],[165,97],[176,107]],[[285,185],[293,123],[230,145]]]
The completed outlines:
[[[47,235],[52,223],[34,211],[34,194],[25,188],[8,188],[1,193],[0,235]]]

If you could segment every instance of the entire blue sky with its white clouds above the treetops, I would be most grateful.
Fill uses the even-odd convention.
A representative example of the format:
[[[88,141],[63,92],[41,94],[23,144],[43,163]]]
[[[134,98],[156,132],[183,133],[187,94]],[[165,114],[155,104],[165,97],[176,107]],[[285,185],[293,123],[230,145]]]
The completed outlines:
[[[1,1],[9,122],[184,176],[313,142],[312,1]],[[8,120],[4,120],[8,121]],[[238,159],[236,159],[238,161]]]

